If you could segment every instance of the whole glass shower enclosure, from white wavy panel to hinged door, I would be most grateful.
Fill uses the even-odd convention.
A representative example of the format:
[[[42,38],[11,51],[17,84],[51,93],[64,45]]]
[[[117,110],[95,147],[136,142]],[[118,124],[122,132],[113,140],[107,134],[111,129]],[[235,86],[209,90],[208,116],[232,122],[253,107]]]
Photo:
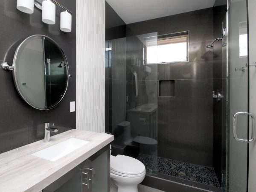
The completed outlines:
[[[253,191],[247,14],[246,0],[230,2],[213,49],[206,47],[213,35],[201,42],[200,29],[189,27],[106,41],[112,155],[140,160],[146,177],[200,190]]]

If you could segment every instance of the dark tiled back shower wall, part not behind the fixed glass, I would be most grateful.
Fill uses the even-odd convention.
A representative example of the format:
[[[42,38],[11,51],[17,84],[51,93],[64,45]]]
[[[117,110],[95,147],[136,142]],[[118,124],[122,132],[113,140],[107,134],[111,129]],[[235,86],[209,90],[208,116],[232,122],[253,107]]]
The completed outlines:
[[[158,156],[213,166],[213,60],[218,55],[206,48],[213,39],[213,9],[127,25],[127,36],[183,31],[189,31],[189,62],[157,66],[157,80],[175,80],[175,97],[157,98]]]

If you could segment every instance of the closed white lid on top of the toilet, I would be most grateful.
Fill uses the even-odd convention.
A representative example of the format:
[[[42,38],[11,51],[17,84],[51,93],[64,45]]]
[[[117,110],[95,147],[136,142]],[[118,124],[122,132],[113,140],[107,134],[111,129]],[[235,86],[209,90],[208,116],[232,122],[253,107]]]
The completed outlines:
[[[111,158],[110,169],[114,172],[138,175],[145,172],[145,166],[139,160],[125,155],[117,155]]]

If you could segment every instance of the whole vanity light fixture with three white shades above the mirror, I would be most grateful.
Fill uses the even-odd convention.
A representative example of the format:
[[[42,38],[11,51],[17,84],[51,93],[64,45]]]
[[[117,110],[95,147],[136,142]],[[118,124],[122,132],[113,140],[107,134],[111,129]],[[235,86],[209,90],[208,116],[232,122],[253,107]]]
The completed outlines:
[[[33,13],[34,5],[42,10],[42,21],[49,25],[55,24],[56,7],[55,5],[64,9],[61,12],[61,25],[60,29],[64,32],[72,31],[72,12],[62,6],[56,0],[17,0],[17,9],[24,13]]]

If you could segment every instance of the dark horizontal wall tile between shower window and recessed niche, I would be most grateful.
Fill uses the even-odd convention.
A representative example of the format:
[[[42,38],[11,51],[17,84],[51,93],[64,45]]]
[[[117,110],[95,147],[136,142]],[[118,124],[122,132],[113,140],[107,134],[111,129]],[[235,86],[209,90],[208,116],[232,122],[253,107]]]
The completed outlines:
[[[164,64],[164,76],[159,79],[212,79],[213,61],[195,61]]]

